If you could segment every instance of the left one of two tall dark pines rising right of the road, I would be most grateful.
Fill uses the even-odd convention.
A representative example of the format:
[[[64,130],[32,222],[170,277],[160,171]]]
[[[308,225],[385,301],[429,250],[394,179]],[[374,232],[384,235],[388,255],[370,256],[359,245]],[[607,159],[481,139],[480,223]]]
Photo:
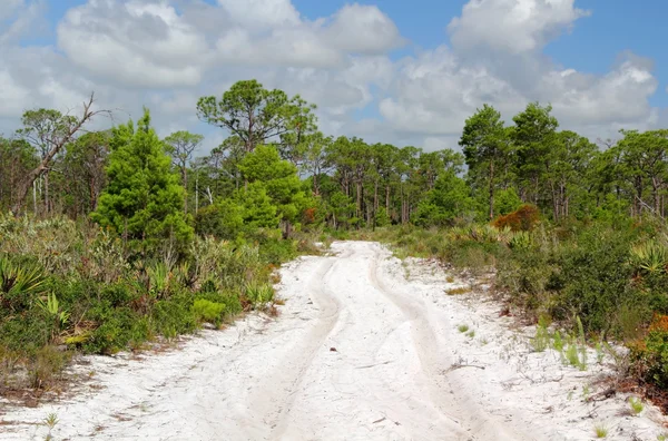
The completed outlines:
[[[489,217],[494,218],[494,192],[501,164],[510,155],[510,143],[501,114],[484,105],[464,125],[460,139],[469,174],[474,182],[487,183]]]

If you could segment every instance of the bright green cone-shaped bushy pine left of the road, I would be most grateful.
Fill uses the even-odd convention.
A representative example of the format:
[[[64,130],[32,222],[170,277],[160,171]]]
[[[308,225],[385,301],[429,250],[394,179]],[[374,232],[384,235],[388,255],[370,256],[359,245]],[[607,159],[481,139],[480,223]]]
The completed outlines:
[[[187,241],[193,228],[183,212],[184,187],[171,171],[165,145],[150,127],[148,109],[137,128],[129,121],[112,134],[114,150],[107,167],[109,185],[91,218],[145,249],[140,241]]]

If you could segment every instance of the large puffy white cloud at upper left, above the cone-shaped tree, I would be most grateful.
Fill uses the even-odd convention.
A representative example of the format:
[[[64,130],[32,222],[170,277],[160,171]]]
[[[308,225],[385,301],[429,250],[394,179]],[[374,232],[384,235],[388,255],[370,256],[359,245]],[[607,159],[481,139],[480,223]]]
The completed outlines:
[[[68,58],[130,87],[194,86],[208,60],[203,35],[166,2],[90,0],[58,26]]]

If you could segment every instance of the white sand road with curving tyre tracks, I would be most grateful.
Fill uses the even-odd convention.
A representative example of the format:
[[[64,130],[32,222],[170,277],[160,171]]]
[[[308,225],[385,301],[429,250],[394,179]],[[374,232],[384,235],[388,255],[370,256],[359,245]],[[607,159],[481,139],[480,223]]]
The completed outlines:
[[[402,264],[375,243],[282,268],[278,318],[249,315],[167,353],[86,357],[75,398],[0,402],[0,440],[656,440],[651,405],[587,401],[587,372],[532,352],[483,294],[446,295],[433,264]],[[409,273],[409,274],[406,274]],[[461,283],[461,282],[460,282]],[[456,283],[455,283],[456,284]],[[469,334],[460,325],[470,327]],[[474,332],[471,334],[470,332]]]

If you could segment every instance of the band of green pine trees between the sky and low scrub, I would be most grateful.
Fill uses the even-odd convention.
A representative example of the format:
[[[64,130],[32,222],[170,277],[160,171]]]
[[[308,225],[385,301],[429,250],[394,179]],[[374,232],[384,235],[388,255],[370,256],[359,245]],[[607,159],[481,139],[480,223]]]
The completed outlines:
[[[0,138],[0,207],[14,214],[88,216],[128,239],[256,228],[332,228],[492,219],[522,204],[554,222],[651,213],[666,216],[668,130],[621,130],[595,144],[559,130],[550,106],[512,118],[489,105],[466,119],[459,146],[424,151],[318,130],[299,96],[238,81],[196,104],[200,120],[229,136],[195,157],[204,137],[159,139],[150,116],[87,131],[81,115],[28,110]],[[176,214],[179,212],[179,214]]]

